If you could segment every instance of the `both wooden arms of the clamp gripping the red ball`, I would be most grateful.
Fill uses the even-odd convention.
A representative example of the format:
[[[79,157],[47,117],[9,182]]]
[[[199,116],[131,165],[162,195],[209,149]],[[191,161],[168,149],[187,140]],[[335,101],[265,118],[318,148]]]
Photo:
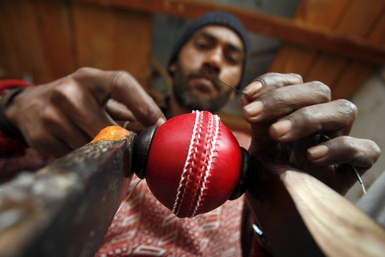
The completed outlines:
[[[0,256],[97,252],[133,174],[136,134],[118,134],[0,186]],[[247,199],[275,255],[383,256],[384,230],[341,195],[275,160],[253,165]]]

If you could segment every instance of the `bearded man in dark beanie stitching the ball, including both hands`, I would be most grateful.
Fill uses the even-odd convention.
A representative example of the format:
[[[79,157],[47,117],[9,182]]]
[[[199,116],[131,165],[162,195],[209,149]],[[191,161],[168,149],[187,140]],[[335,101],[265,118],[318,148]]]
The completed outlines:
[[[219,110],[235,93],[206,72],[240,88],[248,47],[242,24],[231,15],[208,13],[191,23],[168,67],[174,89],[165,116]],[[330,90],[322,83],[303,83],[296,74],[268,73],[244,93],[241,104],[244,118],[252,124],[252,155],[290,157],[285,160],[314,172],[341,193],[355,177],[342,170],[343,176],[335,175],[340,172],[335,164],[350,163],[363,173],[378,158],[374,142],[347,136],[356,116],[354,105],[330,101]],[[61,156],[83,145],[115,120],[138,120],[144,125],[164,121],[129,74],[89,68],[8,94],[3,113],[7,132],[21,133],[29,146],[45,156]],[[331,140],[320,143],[314,137],[318,132]],[[98,255],[241,255],[244,199],[228,201],[194,219],[179,219],[156,201],[146,183],[140,183],[122,203]]]

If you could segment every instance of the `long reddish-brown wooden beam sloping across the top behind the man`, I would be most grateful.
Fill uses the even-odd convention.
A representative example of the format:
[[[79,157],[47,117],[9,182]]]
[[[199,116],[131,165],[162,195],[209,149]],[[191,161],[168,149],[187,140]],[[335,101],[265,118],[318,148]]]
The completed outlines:
[[[369,63],[385,62],[385,47],[364,38],[335,33],[331,30],[292,19],[250,11],[233,6],[192,0],[73,0],[138,11],[164,13],[181,18],[197,18],[208,11],[222,10],[237,16],[251,32],[277,37],[282,41],[316,48],[336,55]]]

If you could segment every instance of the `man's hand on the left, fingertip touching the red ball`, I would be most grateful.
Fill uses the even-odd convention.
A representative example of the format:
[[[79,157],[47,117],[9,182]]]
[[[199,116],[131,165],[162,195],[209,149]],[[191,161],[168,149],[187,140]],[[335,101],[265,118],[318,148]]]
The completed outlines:
[[[60,157],[88,143],[115,120],[161,125],[154,100],[124,71],[81,68],[57,81],[26,88],[12,101],[6,118],[30,147]]]

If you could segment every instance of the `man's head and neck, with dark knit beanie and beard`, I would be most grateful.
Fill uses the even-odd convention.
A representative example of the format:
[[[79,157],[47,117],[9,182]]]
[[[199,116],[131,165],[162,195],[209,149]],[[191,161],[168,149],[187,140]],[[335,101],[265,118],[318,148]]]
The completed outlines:
[[[236,92],[212,76],[240,88],[249,44],[243,25],[224,13],[210,13],[192,23],[173,48],[167,67],[174,86],[166,117],[197,109],[219,111]]]

